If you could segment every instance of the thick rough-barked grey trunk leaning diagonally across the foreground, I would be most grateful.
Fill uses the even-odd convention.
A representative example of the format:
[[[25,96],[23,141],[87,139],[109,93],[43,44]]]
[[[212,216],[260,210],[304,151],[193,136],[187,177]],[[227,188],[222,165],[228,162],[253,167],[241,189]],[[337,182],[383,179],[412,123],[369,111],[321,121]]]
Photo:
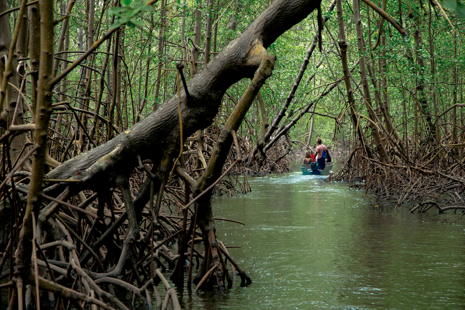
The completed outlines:
[[[315,0],[276,0],[253,21],[236,40],[223,48],[196,77],[187,83],[191,101],[181,90],[183,136],[188,137],[211,124],[218,112],[226,89],[258,67],[252,60],[251,48],[256,40],[268,47],[286,29],[305,18],[319,4]],[[304,8],[304,9],[303,9]],[[179,153],[179,119],[177,95],[168,99],[164,108],[100,145],[86,155],[77,156],[49,172],[49,178],[79,178],[77,188],[100,188],[112,184],[117,174],[128,174],[137,165],[136,155],[159,158],[160,150],[175,157]],[[167,135],[166,132],[171,134]],[[118,172],[113,168],[118,167]],[[76,172],[80,171],[79,175]],[[74,186],[74,185],[73,185]]]

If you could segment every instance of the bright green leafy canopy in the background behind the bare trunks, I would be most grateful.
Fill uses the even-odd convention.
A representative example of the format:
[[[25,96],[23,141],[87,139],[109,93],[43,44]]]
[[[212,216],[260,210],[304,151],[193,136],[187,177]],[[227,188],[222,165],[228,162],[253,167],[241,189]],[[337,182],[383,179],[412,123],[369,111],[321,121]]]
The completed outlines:
[[[200,8],[198,0],[176,0],[168,1],[165,6],[165,12],[162,14],[161,1],[155,2],[153,6],[146,6],[145,1],[120,0],[120,6],[105,9],[101,21],[101,33],[111,31],[121,27],[120,44],[123,48],[123,60],[120,62],[119,74],[121,78],[121,99],[120,112],[124,119],[124,126],[131,126],[133,119],[136,118],[142,102],[146,101],[140,114],[146,116],[152,111],[153,105],[163,105],[167,98],[173,95],[175,89],[176,70],[175,63],[183,59],[183,45],[186,44],[187,57],[191,57],[192,39],[194,36],[195,11]],[[219,15],[223,14],[217,23],[216,32],[216,49],[213,47],[212,34],[212,52],[220,52],[224,46],[233,41],[257,16],[271,3],[263,0],[236,0],[231,6],[229,1],[214,2],[213,10],[208,11],[207,1],[202,1],[202,20],[201,20],[201,52],[205,49],[205,20],[207,15],[213,17],[213,22],[217,21]],[[427,100],[427,113],[433,113],[432,104],[432,85],[435,87],[437,97],[437,109],[439,112],[444,111],[453,102],[454,91],[458,92],[458,103],[463,103],[462,78],[465,73],[465,54],[461,53],[464,49],[462,33],[465,25],[456,17],[463,18],[464,4],[461,1],[443,0],[443,7],[448,10],[450,19],[456,24],[459,32],[457,38],[451,31],[448,22],[442,16],[442,13],[436,6],[432,6],[431,18],[431,35],[433,53],[429,49],[429,16],[424,15],[423,8],[419,0],[412,0],[413,18],[408,17],[409,2],[401,2],[402,16],[399,15],[399,2],[396,0],[387,0],[387,13],[394,19],[402,20],[402,25],[407,31],[407,36],[402,37],[389,26],[386,22],[383,25],[385,44],[380,44],[373,51],[376,44],[379,29],[379,15],[372,10],[368,11],[367,7],[361,2],[361,24],[363,31],[363,40],[366,44],[365,59],[372,64],[374,79],[379,92],[380,80],[382,74],[379,70],[380,61],[386,60],[387,71],[387,97],[388,104],[393,122],[398,126],[399,135],[410,139],[415,132],[425,131],[427,124],[422,112],[419,110],[419,98],[423,96],[419,85],[425,85],[424,95]],[[380,4],[380,1],[377,3]],[[427,1],[423,1],[426,6],[425,10],[429,12]],[[95,19],[96,25],[100,22],[100,13],[103,1],[96,3]],[[306,72],[300,82],[299,88],[295,93],[295,98],[286,111],[286,116],[281,125],[286,125],[294,118],[303,108],[312,101],[319,98],[319,94],[327,87],[331,86],[334,81],[342,78],[342,68],[340,66],[340,57],[337,46],[338,43],[338,25],[336,11],[326,12],[328,3],[323,2],[323,16],[329,20],[323,31],[323,47],[326,54],[319,53],[318,48],[312,54]],[[78,50],[78,32],[82,29],[84,32],[84,49],[86,48],[86,29],[87,17],[85,13],[86,1],[77,0],[73,9],[73,17],[70,19],[70,51]],[[227,9],[226,9],[227,8]],[[343,1],[343,13],[346,31],[346,40],[348,42],[348,61],[349,66],[354,70],[352,72],[352,87],[357,104],[357,112],[367,116],[366,106],[359,93],[361,86],[359,66],[356,65],[360,55],[357,49],[357,35],[352,13],[352,1]],[[162,17],[162,15],[164,17]],[[113,24],[110,22],[112,16],[115,17]],[[400,18],[402,17],[402,18]],[[13,18],[13,17],[12,17]],[[181,25],[185,19],[185,41],[181,40]],[[234,27],[232,27],[233,25]],[[306,55],[309,46],[312,44],[313,36],[317,32],[316,13],[310,14],[307,18],[292,26],[286,33],[280,36],[271,46],[268,47],[268,53],[277,55],[277,61],[272,76],[266,81],[266,85],[261,89],[265,100],[267,117],[271,123],[272,119],[279,112],[282,105],[292,88],[294,80],[299,73],[300,66]],[[160,31],[161,30],[161,31]],[[421,42],[415,39],[416,35],[421,33]],[[57,37],[60,34],[60,26],[57,26]],[[161,38],[161,40],[159,40]],[[96,40],[97,38],[94,38]],[[159,43],[163,44],[163,49],[159,50]],[[382,43],[382,42],[381,42]],[[111,44],[111,42],[110,42]],[[455,45],[457,45],[455,47]],[[99,52],[106,49],[106,43],[99,47]],[[455,52],[457,50],[457,53]],[[113,46],[111,49],[113,55]],[[78,53],[70,53],[69,60],[77,59]],[[93,61],[93,67],[101,70],[105,59],[105,53],[98,53]],[[199,68],[203,67],[203,54],[200,57]],[[215,61],[215,54],[213,60]],[[435,72],[431,71],[432,57],[434,57]],[[424,66],[420,66],[420,59]],[[187,59],[188,60],[188,59]],[[147,75],[147,94],[145,96],[145,76],[146,65],[148,63]],[[111,85],[113,81],[112,73],[113,56],[110,56],[106,73],[106,89],[103,94],[103,101],[111,101]],[[155,97],[155,84],[157,83],[158,66],[161,64],[161,77],[159,78],[159,94]],[[456,68],[459,76],[459,84],[453,83],[453,72]],[[60,72],[61,67],[59,68]],[[189,63],[187,62],[186,78],[193,76]],[[75,70],[68,76],[69,80],[74,81],[76,86],[68,90],[73,91],[72,96],[78,98],[84,92],[84,76],[80,70]],[[312,77],[312,79],[310,79]],[[99,75],[97,74],[97,80]],[[309,80],[310,79],[310,80]],[[307,82],[309,80],[309,82]],[[93,80],[94,81],[94,80]],[[244,79],[231,86],[224,97],[224,104],[221,107],[219,116],[221,121],[227,118],[232,111],[234,102],[239,100],[250,79]],[[98,82],[96,87],[98,88]],[[434,83],[434,84],[432,84]],[[369,83],[373,108],[378,107],[380,102],[374,100],[374,87]],[[356,88],[355,86],[359,86]],[[74,98],[73,97],[73,98]],[[92,92],[91,97],[96,98]],[[346,91],[344,82],[339,84],[326,97],[320,99],[316,104],[315,112],[327,116],[315,116],[314,132],[312,135],[311,145],[318,138],[326,141],[327,145],[344,145],[349,139],[353,138],[353,126],[349,120],[348,109],[346,104]],[[234,100],[234,101],[233,101]],[[89,101],[89,107],[92,109],[95,100]],[[79,101],[73,101],[73,105],[78,106]],[[306,113],[292,128],[290,132],[291,139],[299,139],[307,143],[308,132],[310,131],[311,112]],[[102,107],[103,111],[103,107]],[[102,113],[102,112],[101,112]],[[462,116],[461,110],[458,110],[458,118]],[[127,116],[126,116],[127,114]],[[330,117],[328,117],[330,116]],[[336,126],[335,119],[338,119],[339,125]],[[463,118],[462,118],[463,119]],[[465,120],[465,119],[464,119]],[[406,123],[404,123],[406,122]],[[445,135],[450,134],[451,128],[449,116],[446,115],[440,121],[441,130]],[[360,120],[368,139],[372,141],[371,130],[367,127],[365,119]],[[459,122],[462,126],[461,119]],[[261,115],[258,106],[253,106],[246,115],[246,122],[241,126],[242,136],[248,136],[251,140],[257,141],[260,134]],[[331,142],[332,141],[332,142]]]

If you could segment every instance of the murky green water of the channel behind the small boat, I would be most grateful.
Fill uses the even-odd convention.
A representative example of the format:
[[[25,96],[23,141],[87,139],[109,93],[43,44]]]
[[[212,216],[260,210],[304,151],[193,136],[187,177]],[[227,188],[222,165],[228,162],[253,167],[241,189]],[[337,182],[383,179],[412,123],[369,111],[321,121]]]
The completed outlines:
[[[453,214],[374,211],[364,192],[301,172],[213,199],[217,238],[253,283],[178,292],[183,309],[464,309],[464,227]]]

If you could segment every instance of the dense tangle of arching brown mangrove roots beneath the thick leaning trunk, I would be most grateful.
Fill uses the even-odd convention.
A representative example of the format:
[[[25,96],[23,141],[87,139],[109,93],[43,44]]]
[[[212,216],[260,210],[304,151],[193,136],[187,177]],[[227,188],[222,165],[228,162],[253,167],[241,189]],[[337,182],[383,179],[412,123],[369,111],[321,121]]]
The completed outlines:
[[[151,168],[150,165],[146,167]],[[147,177],[146,171],[135,171],[129,179],[121,179],[120,187],[113,188],[110,195],[100,195],[99,192],[97,196],[92,191],[83,191],[79,195],[64,198],[66,201],[63,204],[51,202],[57,215],[53,214],[40,223],[44,234],[37,239],[43,253],[43,257],[38,253],[40,290],[55,294],[53,299],[65,308],[67,304],[78,309],[85,308],[86,304],[95,304],[102,309],[127,310],[127,305],[114,296],[113,288],[120,288],[124,294],[137,297],[149,309],[163,309],[167,305],[180,309],[176,290],[163,275],[164,271],[175,265],[184,267],[187,261],[196,268],[200,267],[200,275],[204,279],[196,290],[211,288],[215,284],[223,289],[226,280],[228,286],[231,286],[236,272],[243,284],[251,282],[246,272],[234,262],[226,246],[216,240],[214,232],[204,236],[199,224],[194,225],[195,214],[189,209],[185,224],[183,223],[184,215],[178,206],[186,194],[186,184],[181,178],[173,178],[166,185],[160,199],[159,214],[153,221],[150,206],[141,207],[139,200],[145,195],[144,191],[150,190],[142,181]],[[102,214],[102,218],[70,209],[67,204],[87,204],[85,208],[89,214]],[[50,208],[43,210],[48,212]],[[140,220],[137,219],[139,215]],[[234,219],[215,219],[243,224]],[[213,222],[212,225],[214,227]],[[189,227],[191,228],[184,231]],[[14,225],[10,233],[15,236]],[[185,236],[181,238],[183,233]],[[187,240],[184,247],[180,246],[182,240]],[[210,248],[207,251],[197,247],[203,240],[208,240]],[[191,248],[192,258],[189,253]],[[10,253],[14,250],[9,243],[2,254],[0,268],[8,264]],[[180,255],[181,250],[183,255]],[[14,254],[11,257],[14,259]],[[183,257],[182,261],[179,260],[180,257]],[[230,270],[226,268],[228,262],[231,265]],[[207,274],[208,270],[203,271],[201,267],[206,264],[214,264],[217,270],[209,267],[208,270],[213,272]],[[183,268],[182,272],[174,274],[184,277],[186,271],[187,268]],[[2,277],[9,274],[6,271],[2,273]],[[47,280],[47,277],[51,280]],[[31,280],[30,284],[34,285],[35,280]],[[15,286],[16,281],[13,277],[11,283],[2,287]],[[160,282],[164,284],[165,297],[160,296],[158,291],[157,285]],[[182,282],[176,283],[182,285]],[[25,289],[26,286],[24,285]],[[155,302],[157,305],[152,305]]]

